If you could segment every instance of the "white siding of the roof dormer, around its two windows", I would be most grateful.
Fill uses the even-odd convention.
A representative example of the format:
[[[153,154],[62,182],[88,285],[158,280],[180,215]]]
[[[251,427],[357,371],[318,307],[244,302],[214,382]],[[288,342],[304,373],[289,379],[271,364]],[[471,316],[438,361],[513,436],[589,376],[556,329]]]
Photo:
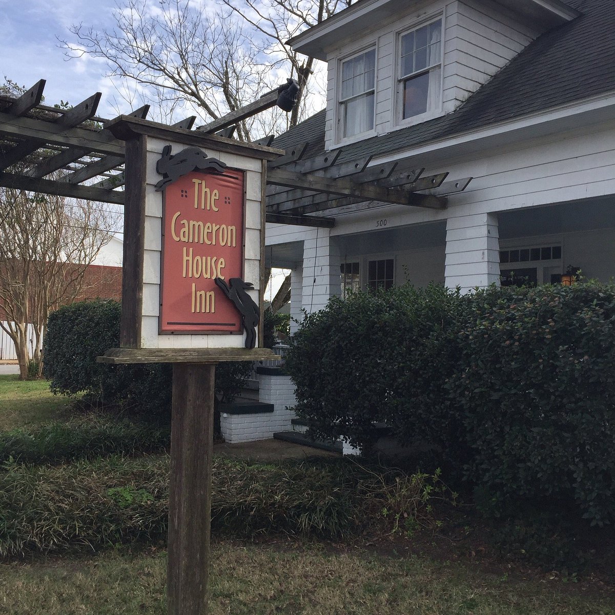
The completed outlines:
[[[410,3],[409,3],[410,4]],[[327,121],[325,146],[343,145],[336,129],[338,122],[339,62],[366,46],[376,46],[376,110],[375,129],[356,140],[381,135],[400,128],[395,108],[397,79],[397,46],[399,33],[431,18],[442,16],[443,94],[442,110],[454,111],[466,98],[485,84],[521,52],[539,31],[521,23],[507,9],[476,0],[438,0],[412,3],[411,12],[396,15],[390,21],[366,31],[362,38],[344,41],[328,52]],[[423,119],[421,121],[424,121]],[[407,124],[404,124],[407,125]]]

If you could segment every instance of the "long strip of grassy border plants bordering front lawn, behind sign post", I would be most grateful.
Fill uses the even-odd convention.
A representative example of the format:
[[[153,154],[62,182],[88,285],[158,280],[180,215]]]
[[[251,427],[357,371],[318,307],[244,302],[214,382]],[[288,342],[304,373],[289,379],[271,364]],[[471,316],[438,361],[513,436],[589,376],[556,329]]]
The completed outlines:
[[[169,457],[68,466],[6,464],[0,474],[0,556],[91,549],[167,536]],[[431,522],[447,497],[437,477],[339,460],[258,464],[215,458],[212,531],[338,537],[369,523]],[[383,517],[384,515],[384,517]]]

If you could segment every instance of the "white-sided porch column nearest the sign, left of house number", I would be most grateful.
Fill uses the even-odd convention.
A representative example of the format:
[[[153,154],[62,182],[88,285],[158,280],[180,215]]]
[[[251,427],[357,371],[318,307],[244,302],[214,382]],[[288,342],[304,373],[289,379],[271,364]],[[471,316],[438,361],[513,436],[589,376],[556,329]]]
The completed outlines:
[[[329,298],[341,293],[339,247],[329,229],[312,231],[303,242],[303,309],[309,313],[322,309]]]

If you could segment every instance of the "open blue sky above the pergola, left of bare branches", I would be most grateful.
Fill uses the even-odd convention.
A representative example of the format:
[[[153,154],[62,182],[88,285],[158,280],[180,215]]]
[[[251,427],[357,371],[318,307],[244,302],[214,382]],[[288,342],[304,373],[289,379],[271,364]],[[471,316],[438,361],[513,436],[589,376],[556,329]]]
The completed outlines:
[[[58,38],[69,38],[73,23],[110,24],[113,0],[0,0],[0,79],[8,77],[30,87],[47,79],[45,103],[79,103],[102,92],[98,115],[114,116],[116,90],[104,77],[101,60],[84,57],[67,61]],[[125,106],[126,103],[124,103]]]

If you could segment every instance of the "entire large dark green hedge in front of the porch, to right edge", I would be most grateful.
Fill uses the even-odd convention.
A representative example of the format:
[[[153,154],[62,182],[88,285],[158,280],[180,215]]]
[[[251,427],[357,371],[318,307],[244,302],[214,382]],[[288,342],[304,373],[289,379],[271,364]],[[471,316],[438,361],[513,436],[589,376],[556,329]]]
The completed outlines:
[[[333,299],[287,369],[317,435],[383,421],[464,470],[491,515],[615,521],[615,287],[411,287]]]

